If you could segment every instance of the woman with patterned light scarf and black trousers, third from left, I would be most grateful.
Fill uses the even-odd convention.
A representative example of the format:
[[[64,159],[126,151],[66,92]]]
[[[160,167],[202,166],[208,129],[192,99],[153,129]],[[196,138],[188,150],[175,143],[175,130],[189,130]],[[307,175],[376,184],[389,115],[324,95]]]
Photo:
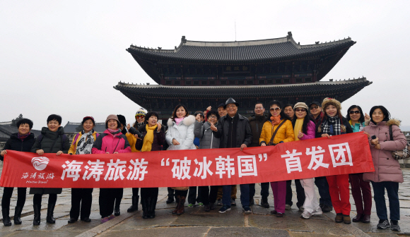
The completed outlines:
[[[77,133],[71,142],[69,154],[91,154],[94,141],[98,134],[93,128],[95,121],[92,116],[86,116],[81,121],[83,130]],[[71,188],[71,209],[69,223],[78,220],[81,210],[81,221],[90,222],[91,205],[93,203],[93,188]]]

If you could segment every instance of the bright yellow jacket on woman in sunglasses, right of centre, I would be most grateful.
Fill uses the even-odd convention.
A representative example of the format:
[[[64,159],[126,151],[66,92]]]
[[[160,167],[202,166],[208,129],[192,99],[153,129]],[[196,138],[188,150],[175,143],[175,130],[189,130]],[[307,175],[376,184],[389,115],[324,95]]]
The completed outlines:
[[[268,145],[269,141],[271,140],[272,135],[274,134],[274,131],[276,128],[279,126],[275,125],[272,126],[271,121],[266,121],[264,123],[264,126],[262,127],[262,133],[259,138],[259,145],[261,142],[265,142],[266,145]],[[281,128],[279,128],[278,132],[275,135],[274,138],[274,143],[277,144],[279,142],[293,142],[295,140],[295,134],[293,133],[293,126],[292,122],[287,120]]]

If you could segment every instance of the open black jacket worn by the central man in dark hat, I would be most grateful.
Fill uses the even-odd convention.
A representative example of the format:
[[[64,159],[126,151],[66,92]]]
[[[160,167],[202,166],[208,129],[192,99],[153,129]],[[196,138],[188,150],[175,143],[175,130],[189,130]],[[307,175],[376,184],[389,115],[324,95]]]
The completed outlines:
[[[222,129],[218,129],[219,135],[221,135],[220,148],[226,148],[228,144],[229,123],[228,114],[219,119]],[[233,147],[240,147],[242,144],[250,146],[252,143],[252,131],[250,130],[250,124],[246,117],[238,114],[238,125],[236,127],[236,144]]]

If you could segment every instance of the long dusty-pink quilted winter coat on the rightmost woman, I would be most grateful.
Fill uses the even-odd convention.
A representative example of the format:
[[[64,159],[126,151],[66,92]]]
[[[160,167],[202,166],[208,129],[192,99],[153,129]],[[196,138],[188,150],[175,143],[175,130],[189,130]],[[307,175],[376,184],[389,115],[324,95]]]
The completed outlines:
[[[373,164],[375,172],[363,173],[364,181],[383,182],[392,181],[403,183],[403,173],[400,169],[400,164],[392,157],[392,151],[403,150],[406,147],[407,140],[402,130],[400,130],[400,122],[396,119],[390,119],[387,122],[380,122],[377,125],[370,122],[363,128],[363,131],[375,135],[379,138],[380,150],[377,150],[370,144],[370,152],[372,152]],[[390,140],[389,126],[392,125],[394,140]]]

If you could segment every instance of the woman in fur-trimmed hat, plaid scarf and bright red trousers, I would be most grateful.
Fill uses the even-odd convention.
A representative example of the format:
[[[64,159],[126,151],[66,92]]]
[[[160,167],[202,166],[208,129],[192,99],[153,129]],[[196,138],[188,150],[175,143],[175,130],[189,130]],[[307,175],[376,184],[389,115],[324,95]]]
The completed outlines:
[[[322,102],[324,116],[317,128],[317,136],[330,138],[332,135],[353,133],[350,124],[341,116],[341,104],[336,99],[326,98]],[[351,224],[350,193],[348,191],[348,174],[326,176],[329,193],[332,199],[336,223]]]

